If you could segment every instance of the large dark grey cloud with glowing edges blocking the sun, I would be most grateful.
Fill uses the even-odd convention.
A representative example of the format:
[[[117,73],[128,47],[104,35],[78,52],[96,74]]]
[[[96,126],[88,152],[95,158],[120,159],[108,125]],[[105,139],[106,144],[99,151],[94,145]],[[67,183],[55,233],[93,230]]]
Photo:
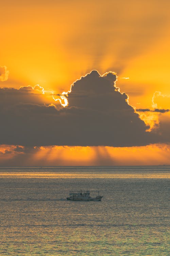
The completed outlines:
[[[159,142],[160,136],[146,132],[149,127],[119,92],[116,78],[95,70],[81,77],[66,95],[68,106],[58,110],[41,103],[35,88],[1,89],[0,144],[122,147]]]

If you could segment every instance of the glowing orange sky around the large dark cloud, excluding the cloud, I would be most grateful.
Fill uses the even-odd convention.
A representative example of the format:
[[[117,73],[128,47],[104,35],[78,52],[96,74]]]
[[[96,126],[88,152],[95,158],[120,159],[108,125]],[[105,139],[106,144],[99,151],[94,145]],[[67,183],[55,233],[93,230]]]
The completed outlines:
[[[91,70],[98,70],[101,75],[112,71],[117,74],[116,86],[129,96],[129,104],[134,108],[168,110],[169,8],[168,0],[3,1],[0,87],[15,88],[18,93],[20,87],[31,86],[29,97],[22,103],[51,104],[51,108],[57,108],[60,102],[52,94],[55,99],[60,98],[59,94],[70,90],[71,84]],[[4,95],[3,99],[7,97]],[[21,103],[19,96],[10,97],[10,104],[16,104],[15,100]],[[43,162],[46,166],[169,164],[169,112],[138,113],[150,130],[157,129],[159,134],[164,131],[166,139],[132,147],[63,147],[61,143],[41,147],[39,143],[35,152],[17,151],[17,145],[24,145],[12,145],[10,140],[4,145],[2,141],[0,165],[7,165],[9,159],[11,165],[17,165],[22,159],[24,166],[31,159],[32,165],[38,166],[42,165],[42,156],[47,159]]]

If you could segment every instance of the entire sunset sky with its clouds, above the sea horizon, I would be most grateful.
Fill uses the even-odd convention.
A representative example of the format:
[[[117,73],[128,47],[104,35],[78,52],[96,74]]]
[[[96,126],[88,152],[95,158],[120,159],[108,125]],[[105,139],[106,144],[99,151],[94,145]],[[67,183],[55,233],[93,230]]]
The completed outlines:
[[[0,166],[170,165],[169,8],[3,1]]]

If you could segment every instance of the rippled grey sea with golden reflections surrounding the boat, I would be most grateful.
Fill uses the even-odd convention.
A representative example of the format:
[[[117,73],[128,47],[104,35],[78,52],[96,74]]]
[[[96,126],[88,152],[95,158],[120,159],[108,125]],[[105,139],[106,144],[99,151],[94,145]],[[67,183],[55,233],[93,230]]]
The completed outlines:
[[[0,169],[0,256],[169,256],[170,167]],[[67,201],[69,190],[102,201]]]

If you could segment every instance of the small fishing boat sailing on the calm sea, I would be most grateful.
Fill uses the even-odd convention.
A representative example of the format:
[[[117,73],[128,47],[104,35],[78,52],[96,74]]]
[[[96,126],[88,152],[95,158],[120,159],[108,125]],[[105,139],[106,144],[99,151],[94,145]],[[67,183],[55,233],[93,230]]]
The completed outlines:
[[[98,194],[94,194],[92,197],[90,196],[90,191],[70,191],[69,197],[67,197],[67,200],[73,200],[73,201],[101,201],[103,196],[100,196],[99,191]]]

